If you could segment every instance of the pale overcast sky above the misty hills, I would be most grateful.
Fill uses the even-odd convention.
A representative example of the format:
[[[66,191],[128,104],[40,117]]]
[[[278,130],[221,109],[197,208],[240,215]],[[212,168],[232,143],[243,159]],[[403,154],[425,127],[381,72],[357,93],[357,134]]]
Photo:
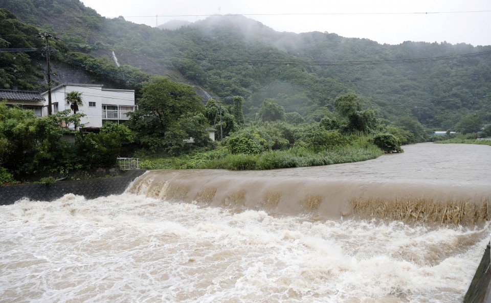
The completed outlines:
[[[379,43],[491,45],[491,0],[81,0],[102,16],[152,27],[242,14],[276,31],[329,32]],[[157,17],[158,15],[158,17]]]

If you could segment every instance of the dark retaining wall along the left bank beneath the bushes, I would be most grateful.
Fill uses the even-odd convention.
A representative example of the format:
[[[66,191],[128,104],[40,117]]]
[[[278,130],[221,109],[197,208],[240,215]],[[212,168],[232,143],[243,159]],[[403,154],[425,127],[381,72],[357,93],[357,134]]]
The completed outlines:
[[[34,201],[53,201],[65,194],[84,196],[94,199],[109,195],[122,194],[128,185],[141,176],[145,170],[131,170],[120,177],[76,181],[58,181],[52,185],[25,184],[0,187],[0,205],[13,204],[22,198]]]

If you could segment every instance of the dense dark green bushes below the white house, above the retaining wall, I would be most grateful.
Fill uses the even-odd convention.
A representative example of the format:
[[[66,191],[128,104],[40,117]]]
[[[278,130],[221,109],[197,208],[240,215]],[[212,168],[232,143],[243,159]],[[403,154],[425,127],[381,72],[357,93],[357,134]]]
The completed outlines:
[[[32,111],[0,103],[0,182],[114,166],[122,144],[132,141],[129,129],[107,124],[100,133],[82,134],[65,127],[79,119],[69,110],[36,118]]]

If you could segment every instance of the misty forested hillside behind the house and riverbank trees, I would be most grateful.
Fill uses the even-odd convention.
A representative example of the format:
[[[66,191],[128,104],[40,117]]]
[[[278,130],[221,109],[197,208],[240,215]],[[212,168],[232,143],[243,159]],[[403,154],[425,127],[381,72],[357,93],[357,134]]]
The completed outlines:
[[[364,108],[391,121],[410,116],[447,130],[476,113],[491,123],[491,46],[382,45],[334,33],[279,33],[243,16],[160,30],[101,17],[78,0],[0,0],[0,8],[17,18],[7,12],[0,17],[0,48],[42,48],[37,29],[48,31],[60,38],[52,41],[54,65],[72,68],[66,71],[136,89],[149,74],[168,76],[200,86],[222,103],[243,97],[249,119],[265,98],[306,120],[332,118],[334,99],[354,92]],[[40,52],[0,56],[2,88],[42,89]],[[55,80],[66,82],[62,75]]]

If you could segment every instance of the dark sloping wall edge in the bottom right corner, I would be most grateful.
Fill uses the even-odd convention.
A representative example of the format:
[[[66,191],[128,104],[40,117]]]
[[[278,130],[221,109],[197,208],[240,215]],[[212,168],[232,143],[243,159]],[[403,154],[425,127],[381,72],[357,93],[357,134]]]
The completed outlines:
[[[491,302],[491,246],[488,244],[482,256],[481,263],[467,290],[463,303]]]

